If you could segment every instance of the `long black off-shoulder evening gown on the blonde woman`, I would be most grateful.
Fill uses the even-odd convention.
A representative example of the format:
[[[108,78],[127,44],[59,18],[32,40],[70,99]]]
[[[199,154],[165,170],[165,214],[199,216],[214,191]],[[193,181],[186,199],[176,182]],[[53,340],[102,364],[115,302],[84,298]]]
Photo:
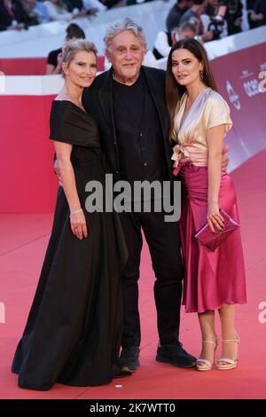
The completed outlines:
[[[41,390],[55,382],[93,386],[112,380],[122,330],[121,269],[127,257],[118,214],[85,209],[86,183],[104,185],[106,175],[96,122],[70,101],[53,101],[51,138],[73,145],[71,161],[89,235],[82,240],[74,236],[59,187],[43,269],[12,363],[21,388]]]

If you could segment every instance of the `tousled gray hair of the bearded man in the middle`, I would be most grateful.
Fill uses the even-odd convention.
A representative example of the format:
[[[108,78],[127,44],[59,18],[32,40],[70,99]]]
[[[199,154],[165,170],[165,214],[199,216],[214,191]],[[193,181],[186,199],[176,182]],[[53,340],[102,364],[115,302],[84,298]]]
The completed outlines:
[[[119,35],[121,32],[124,32],[125,30],[129,30],[138,39],[141,39],[144,43],[146,51],[147,45],[143,28],[137,25],[137,23],[134,20],[126,18],[125,20],[115,23],[113,26],[107,28],[106,35],[104,37],[104,42],[106,44],[106,52],[108,51],[109,45],[113,41],[114,36]]]

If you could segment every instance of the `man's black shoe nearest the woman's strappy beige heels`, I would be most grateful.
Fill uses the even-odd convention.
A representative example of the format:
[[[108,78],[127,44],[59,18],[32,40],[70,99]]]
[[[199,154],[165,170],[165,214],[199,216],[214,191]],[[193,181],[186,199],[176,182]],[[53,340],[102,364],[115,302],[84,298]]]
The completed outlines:
[[[163,346],[159,344],[156,360],[177,367],[190,368],[196,366],[197,358],[186,352],[181,342],[175,341]]]

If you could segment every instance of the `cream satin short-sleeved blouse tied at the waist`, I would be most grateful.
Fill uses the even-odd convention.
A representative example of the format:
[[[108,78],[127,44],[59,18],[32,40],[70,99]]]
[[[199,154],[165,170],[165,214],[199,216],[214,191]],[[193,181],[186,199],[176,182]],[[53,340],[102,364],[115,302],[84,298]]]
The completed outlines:
[[[200,91],[189,111],[184,115],[187,94],[177,103],[173,139],[174,167],[184,158],[193,165],[207,166],[207,129],[225,125],[225,134],[231,129],[230,108],[220,94],[207,87]]]

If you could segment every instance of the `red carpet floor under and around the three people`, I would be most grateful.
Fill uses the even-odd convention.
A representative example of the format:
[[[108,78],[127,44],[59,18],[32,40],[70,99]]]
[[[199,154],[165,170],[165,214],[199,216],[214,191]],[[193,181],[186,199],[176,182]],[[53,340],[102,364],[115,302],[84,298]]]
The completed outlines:
[[[19,389],[17,376],[10,372],[12,357],[35,292],[52,216],[0,215],[0,307],[5,306],[5,323],[0,323],[0,398],[265,398],[265,161],[266,152],[260,153],[232,175],[239,196],[248,303],[238,308],[239,366],[227,372],[214,369],[199,373],[195,369],[179,369],[155,361],[153,270],[145,245],[140,279],[141,366],[137,374],[97,388],[57,384],[46,392]],[[262,302],[264,314],[259,307]],[[196,314],[182,311],[180,339],[186,350],[195,356],[199,354],[200,330]]]

